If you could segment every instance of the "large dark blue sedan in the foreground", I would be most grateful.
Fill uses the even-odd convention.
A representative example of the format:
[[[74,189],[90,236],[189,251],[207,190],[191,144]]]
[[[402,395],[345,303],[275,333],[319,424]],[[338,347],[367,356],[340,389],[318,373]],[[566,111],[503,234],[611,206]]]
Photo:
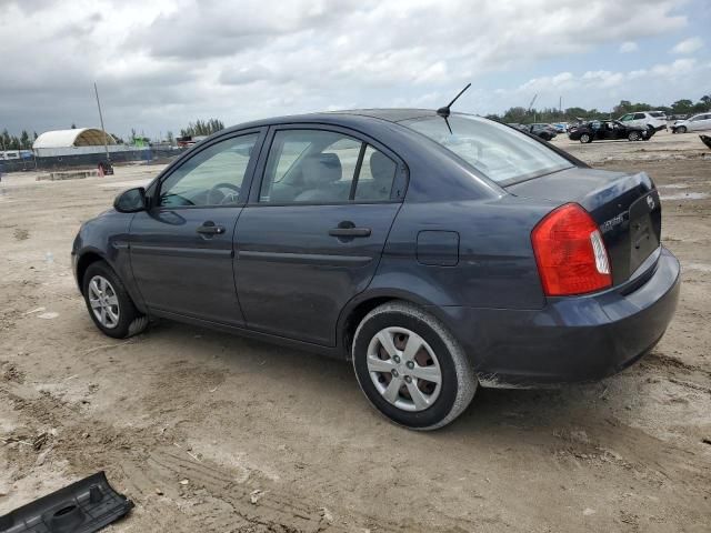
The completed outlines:
[[[351,360],[375,409],[433,430],[478,386],[598,380],[649,351],[680,290],[660,232],[644,172],[479,117],[361,110],[223,130],[71,253],[109,336],[161,318]]]

